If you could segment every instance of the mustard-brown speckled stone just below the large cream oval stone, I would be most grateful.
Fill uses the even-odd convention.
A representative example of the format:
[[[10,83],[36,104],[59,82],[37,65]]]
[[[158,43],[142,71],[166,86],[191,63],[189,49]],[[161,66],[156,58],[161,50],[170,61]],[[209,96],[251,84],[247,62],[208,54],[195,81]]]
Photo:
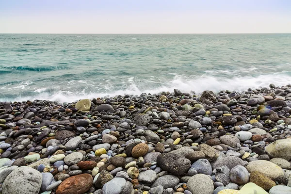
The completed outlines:
[[[276,186],[276,183],[271,178],[259,171],[251,172],[250,182],[255,183],[266,191],[269,191],[272,187]]]

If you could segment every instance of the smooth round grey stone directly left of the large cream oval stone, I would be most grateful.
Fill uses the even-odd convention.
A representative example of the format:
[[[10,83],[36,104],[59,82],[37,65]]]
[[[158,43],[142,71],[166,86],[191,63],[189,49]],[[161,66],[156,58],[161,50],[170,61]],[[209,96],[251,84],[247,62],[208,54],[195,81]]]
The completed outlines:
[[[229,179],[238,185],[244,185],[249,182],[249,173],[243,166],[235,166],[230,170]]]

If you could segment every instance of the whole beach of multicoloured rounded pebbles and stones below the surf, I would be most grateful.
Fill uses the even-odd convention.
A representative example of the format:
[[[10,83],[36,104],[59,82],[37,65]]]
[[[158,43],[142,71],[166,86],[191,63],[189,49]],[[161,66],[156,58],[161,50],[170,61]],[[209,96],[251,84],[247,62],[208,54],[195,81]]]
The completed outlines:
[[[291,194],[291,85],[0,102],[0,194]]]

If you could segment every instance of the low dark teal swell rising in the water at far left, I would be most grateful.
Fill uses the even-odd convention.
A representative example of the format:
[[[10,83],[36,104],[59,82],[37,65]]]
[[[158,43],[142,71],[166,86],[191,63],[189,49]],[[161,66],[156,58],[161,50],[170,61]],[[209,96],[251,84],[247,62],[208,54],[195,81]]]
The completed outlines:
[[[60,69],[70,69],[68,66],[61,66],[61,65],[56,65],[56,66],[7,66],[7,67],[0,67],[0,71],[2,71],[1,68],[2,69],[17,70],[17,71],[53,71],[53,70],[60,70]]]

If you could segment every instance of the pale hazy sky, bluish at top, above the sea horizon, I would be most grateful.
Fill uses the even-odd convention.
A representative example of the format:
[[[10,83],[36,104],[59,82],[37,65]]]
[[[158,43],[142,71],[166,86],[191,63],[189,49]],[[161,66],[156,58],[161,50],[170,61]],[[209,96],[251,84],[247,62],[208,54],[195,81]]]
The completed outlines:
[[[291,0],[0,0],[0,33],[291,33]]]

